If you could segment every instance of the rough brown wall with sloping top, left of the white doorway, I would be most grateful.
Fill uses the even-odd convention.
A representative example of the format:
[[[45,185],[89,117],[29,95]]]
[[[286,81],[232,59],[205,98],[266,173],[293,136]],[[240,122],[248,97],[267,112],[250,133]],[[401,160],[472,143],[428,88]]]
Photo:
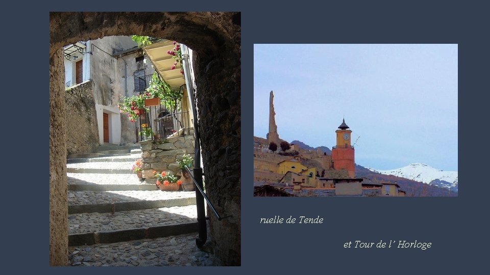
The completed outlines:
[[[88,80],[65,90],[66,153],[93,153],[99,131],[93,100],[93,82]]]

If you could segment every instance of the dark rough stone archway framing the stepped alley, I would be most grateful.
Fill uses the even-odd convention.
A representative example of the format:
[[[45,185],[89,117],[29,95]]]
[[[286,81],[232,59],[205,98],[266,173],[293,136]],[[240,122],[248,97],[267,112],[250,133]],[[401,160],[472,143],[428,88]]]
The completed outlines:
[[[61,49],[104,36],[148,35],[194,51],[206,191],[222,216],[210,217],[214,253],[240,265],[240,13],[50,13],[50,265],[67,263],[64,70]]]

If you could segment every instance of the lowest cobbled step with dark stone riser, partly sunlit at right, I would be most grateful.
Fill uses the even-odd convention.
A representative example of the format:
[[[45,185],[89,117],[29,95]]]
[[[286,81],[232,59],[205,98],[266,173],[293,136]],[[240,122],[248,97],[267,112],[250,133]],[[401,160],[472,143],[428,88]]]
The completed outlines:
[[[68,244],[111,243],[197,232],[195,205],[68,214]]]

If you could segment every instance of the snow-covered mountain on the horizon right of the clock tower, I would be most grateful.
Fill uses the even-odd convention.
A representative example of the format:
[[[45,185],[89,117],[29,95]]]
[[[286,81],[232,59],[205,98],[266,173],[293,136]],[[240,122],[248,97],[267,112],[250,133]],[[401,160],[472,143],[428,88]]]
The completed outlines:
[[[397,177],[421,181],[439,187],[446,187],[455,192],[458,191],[457,171],[438,170],[423,163],[411,163],[408,166],[393,170],[375,170],[372,168],[368,169],[384,175],[394,175]]]

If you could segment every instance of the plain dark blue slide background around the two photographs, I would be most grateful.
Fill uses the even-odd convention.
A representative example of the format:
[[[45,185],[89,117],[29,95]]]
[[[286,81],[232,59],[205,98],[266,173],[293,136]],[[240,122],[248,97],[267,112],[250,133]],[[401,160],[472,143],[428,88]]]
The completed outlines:
[[[193,4],[195,2],[195,4]],[[4,9],[2,262],[4,268],[50,273],[274,270],[275,273],[473,273],[488,255],[486,144],[488,7],[446,1],[306,1],[266,5],[216,1],[61,2]],[[53,3],[53,2],[51,2]],[[56,1],[55,1],[56,3]],[[69,5],[68,5],[69,3]],[[11,3],[17,5],[16,3]],[[48,18],[49,11],[241,11],[242,266],[233,268],[49,267]],[[254,43],[457,43],[459,175],[457,198],[254,198]],[[301,55],[301,52],[298,54]],[[6,71],[5,71],[6,69]],[[300,94],[301,91],[298,91]],[[14,97],[26,103],[14,104]],[[389,104],[389,102],[387,102]],[[366,106],[359,106],[360,108]],[[29,125],[29,137],[18,129]],[[479,138],[471,137],[477,133]],[[13,169],[12,169],[13,168]],[[323,224],[259,224],[261,217],[307,215]],[[432,242],[420,249],[345,249],[348,241]],[[24,271],[24,270],[22,270]]]

